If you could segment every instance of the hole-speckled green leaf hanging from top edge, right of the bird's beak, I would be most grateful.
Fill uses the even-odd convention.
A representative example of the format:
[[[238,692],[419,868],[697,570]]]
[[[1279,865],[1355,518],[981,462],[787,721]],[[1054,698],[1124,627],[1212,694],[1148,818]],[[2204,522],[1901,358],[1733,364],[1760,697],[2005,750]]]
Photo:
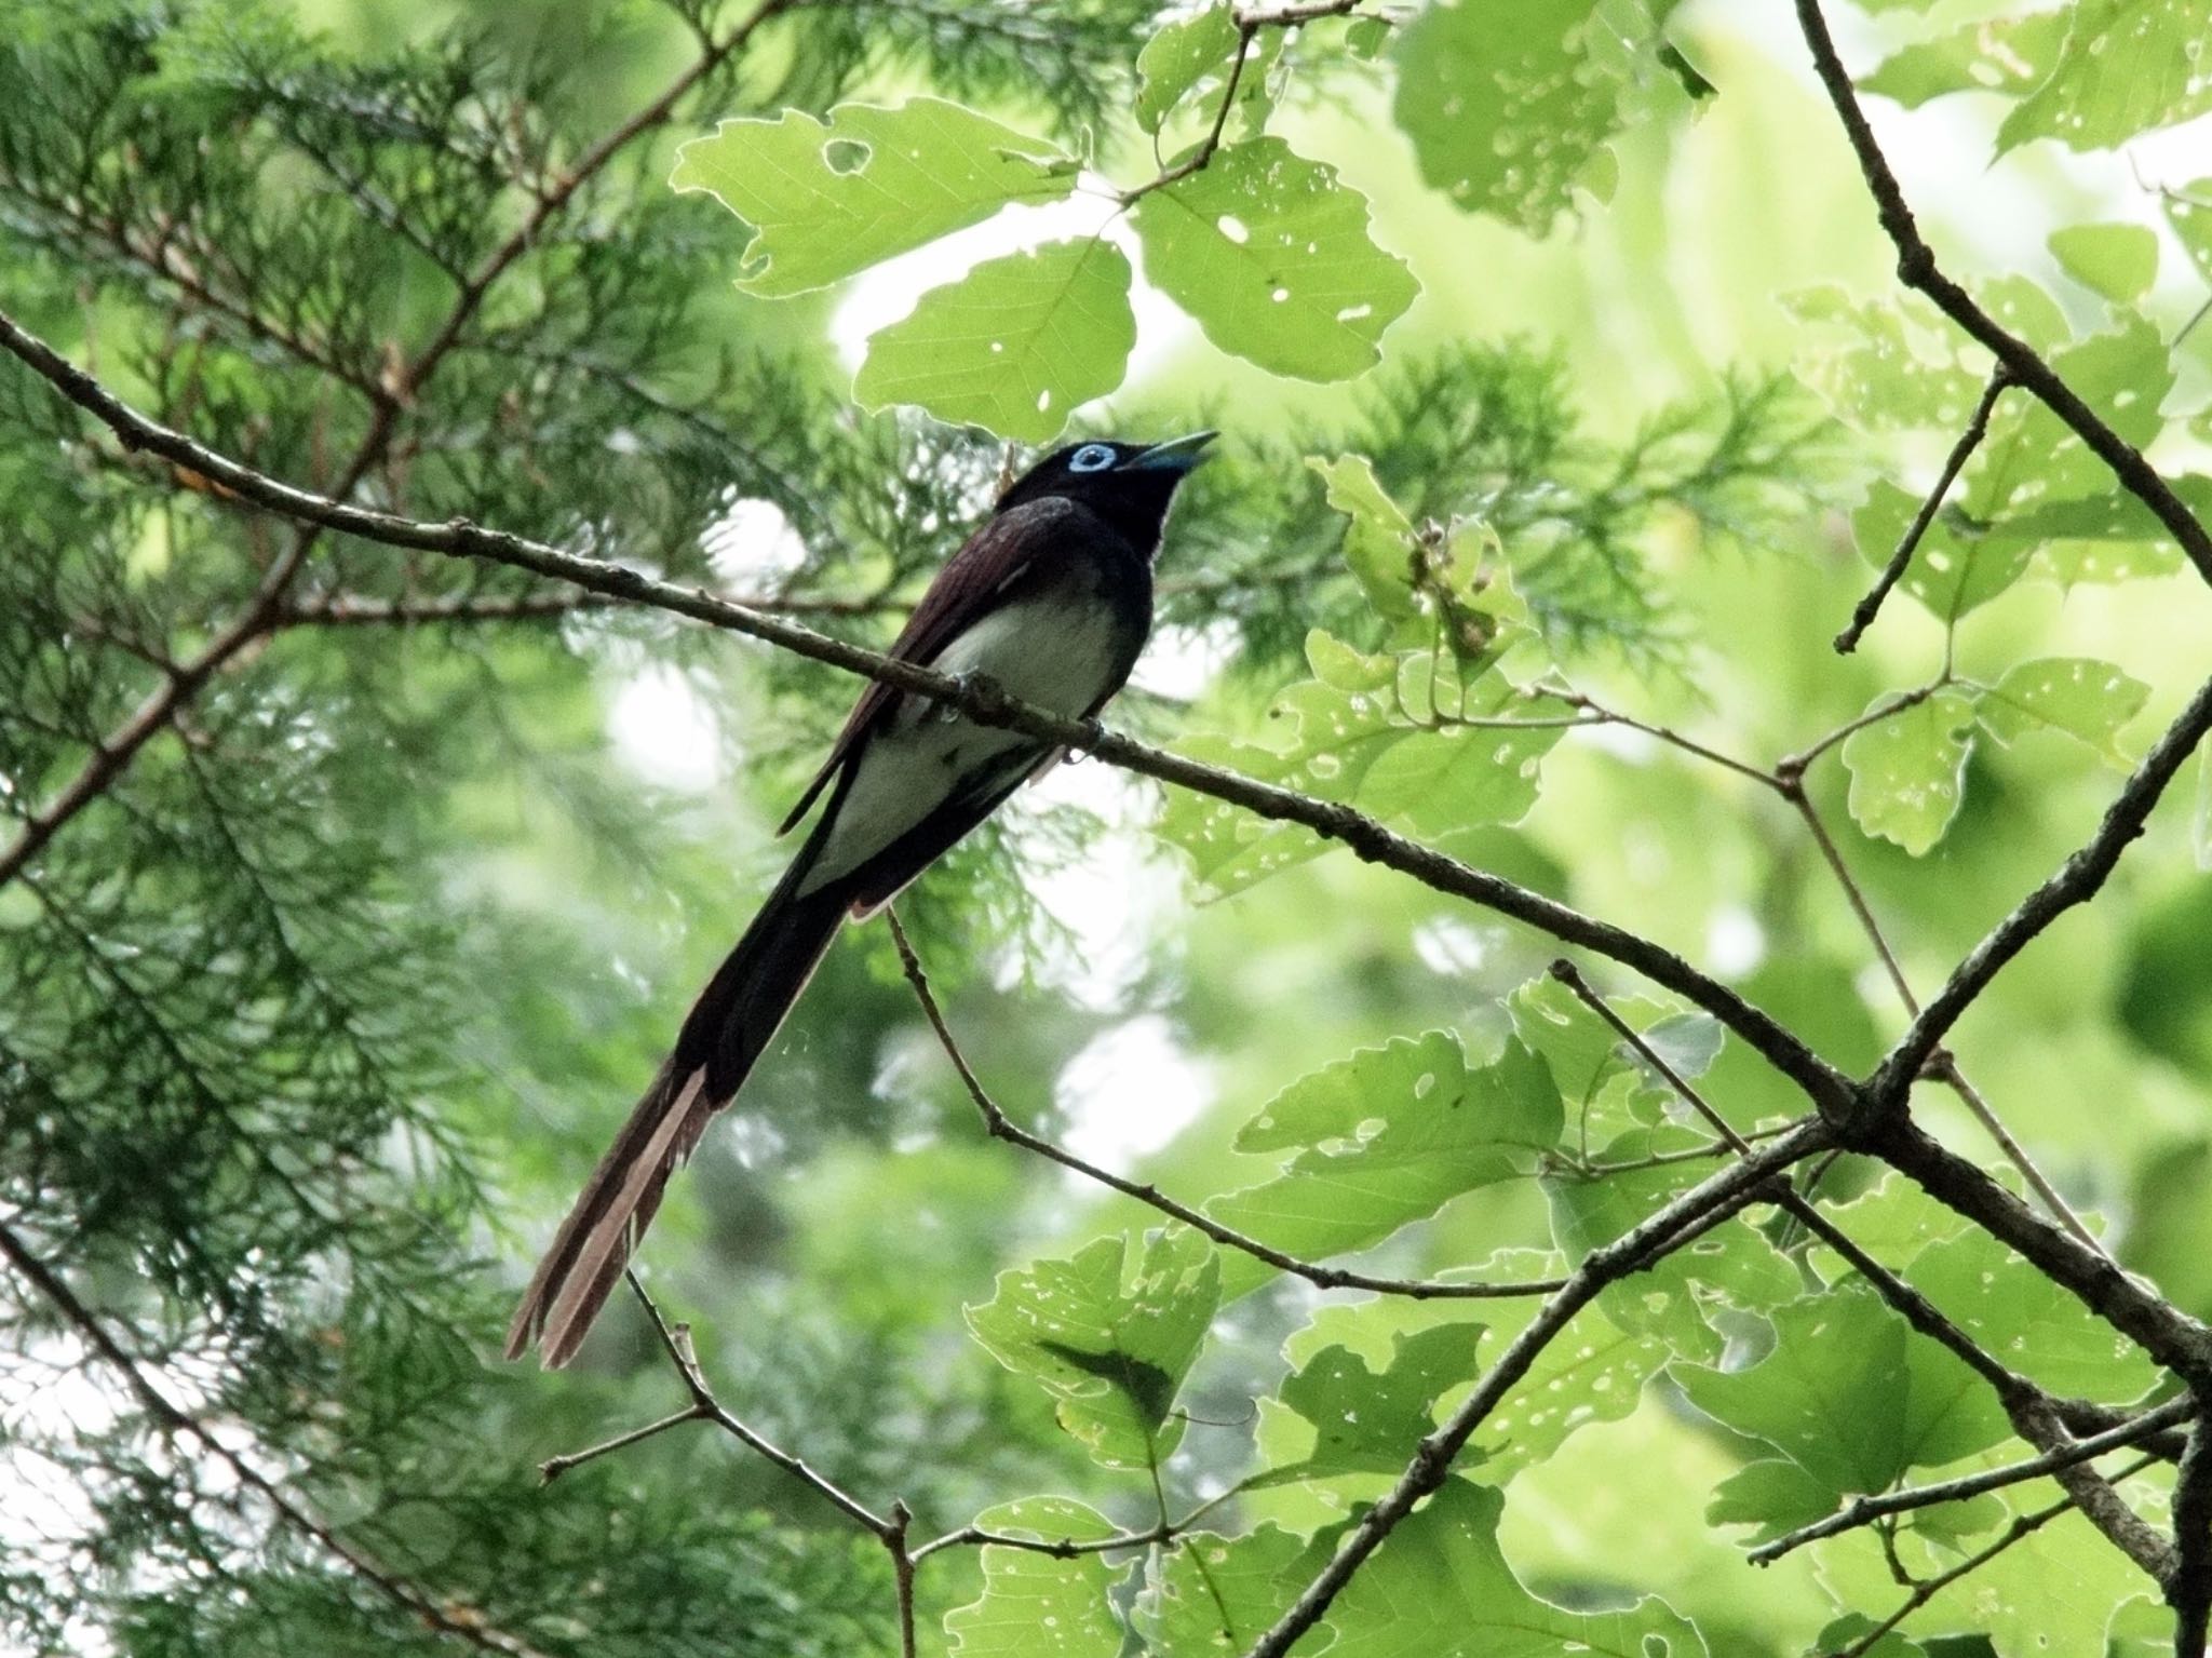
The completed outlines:
[[[1398,40],[1391,113],[1420,177],[1467,212],[1535,237],[1577,181],[1610,195],[1604,146],[1621,122],[1621,82],[1593,62],[1613,22],[1597,11],[1593,0],[1447,0],[1413,18]],[[1639,22],[1650,29],[1648,13]]]

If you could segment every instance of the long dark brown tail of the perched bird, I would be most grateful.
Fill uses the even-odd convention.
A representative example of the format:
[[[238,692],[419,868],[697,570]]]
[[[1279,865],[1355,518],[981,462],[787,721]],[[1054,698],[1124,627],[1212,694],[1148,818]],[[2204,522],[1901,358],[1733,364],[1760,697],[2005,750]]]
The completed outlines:
[[[661,1207],[668,1176],[699,1145],[714,1112],[737,1096],[814,977],[854,898],[847,882],[801,891],[816,844],[818,836],[792,860],[745,937],[699,993],[668,1063],[584,1183],[522,1291],[507,1329],[507,1357],[522,1357],[531,1344],[542,1344],[546,1368],[575,1357],[630,1249]]]

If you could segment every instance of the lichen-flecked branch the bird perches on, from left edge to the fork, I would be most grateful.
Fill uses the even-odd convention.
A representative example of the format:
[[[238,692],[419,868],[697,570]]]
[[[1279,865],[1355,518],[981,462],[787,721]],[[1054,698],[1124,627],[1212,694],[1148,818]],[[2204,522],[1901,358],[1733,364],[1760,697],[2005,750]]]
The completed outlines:
[[[1349,847],[1354,856],[1367,862],[1411,875],[1431,891],[1482,904],[1500,915],[1509,915],[1546,931],[1566,944],[1579,944],[1635,968],[1655,984],[1663,984],[1666,988],[1694,1001],[1723,1026],[1734,1030],[1754,1052],[1763,1054],[1767,1063],[1803,1088],[1825,1114],[1840,1119],[1849,1116],[1854,1110],[1856,1085],[1843,1077],[1843,1072],[1812,1052],[1812,1048],[1807,1048],[1772,1015],[1756,1008],[1719,979],[1690,966],[1690,962],[1674,955],[1666,946],[1613,926],[1610,922],[1582,915],[1566,904],[1533,893],[1526,886],[1517,886],[1500,875],[1491,875],[1489,871],[1471,869],[1455,858],[1447,858],[1440,851],[1385,829],[1378,820],[1354,811],[1352,807],[1334,800],[1316,800],[1312,796],[1296,794],[1294,789],[1259,783],[1256,778],[1239,772],[1228,772],[1166,749],[1148,747],[1117,732],[1106,732],[1093,721],[1060,718],[1055,714],[1046,714],[1044,710],[1015,703],[989,681],[953,679],[931,668],[896,661],[880,652],[845,643],[843,639],[830,639],[827,634],[814,632],[796,621],[748,610],[745,606],[730,604],[728,599],[699,588],[657,581],[619,564],[562,553],[544,542],[531,542],[502,531],[487,531],[467,520],[429,524],[422,520],[398,517],[394,513],[378,513],[365,506],[349,506],[325,495],[294,489],[265,473],[243,466],[228,455],[219,455],[155,420],[148,420],[115,398],[88,374],[58,356],[44,340],[27,334],[4,314],[0,314],[0,347],[7,347],[38,369],[38,374],[51,380],[71,402],[97,416],[126,447],[179,460],[181,464],[201,471],[206,478],[217,480],[234,497],[250,502],[252,506],[334,528],[345,535],[356,535],[367,542],[407,546],[422,553],[442,553],[449,557],[489,559],[493,564],[531,570],[557,581],[571,581],[580,588],[604,592],[630,604],[670,610],[730,632],[763,639],[799,657],[843,668],[852,674],[878,679],[902,692],[927,696],[933,703],[958,707],[962,714],[982,725],[1000,725],[1022,732],[1024,736],[1037,736],[1046,743],[1082,749],[1126,772],[1137,772],[1161,783],[1194,789],[1217,800],[1228,800],[1230,805],[1243,807],[1263,818],[1303,825],[1327,840]],[[0,880],[9,873],[13,873],[11,867],[0,860]]]

